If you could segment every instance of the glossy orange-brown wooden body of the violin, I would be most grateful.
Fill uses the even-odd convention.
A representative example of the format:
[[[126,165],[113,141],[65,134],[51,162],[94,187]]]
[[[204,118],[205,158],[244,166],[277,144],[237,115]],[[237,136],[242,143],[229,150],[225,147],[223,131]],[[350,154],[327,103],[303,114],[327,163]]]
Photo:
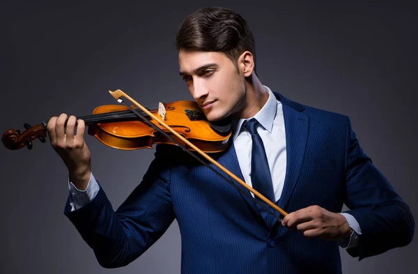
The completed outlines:
[[[186,109],[196,109],[198,107],[196,102],[176,101],[164,103],[163,105],[165,109],[167,109],[164,123],[173,128],[173,130],[176,130],[176,132],[185,137],[189,142],[192,142],[201,149],[201,151],[215,153],[223,151],[229,146],[228,141],[229,137],[231,137],[231,131],[222,134],[213,130],[206,119],[194,121],[189,119],[189,116],[186,114]],[[120,112],[126,109],[127,107],[122,105],[103,105],[96,107],[93,110],[93,114]],[[149,121],[164,130],[164,132],[169,133],[169,131],[162,125],[159,125],[157,121],[153,119],[150,119]],[[95,136],[100,142],[107,146],[123,150],[152,149],[153,144],[175,144],[160,132],[150,128],[150,126],[143,121],[124,121],[123,123],[115,122],[89,125],[88,134]],[[171,137],[187,147],[187,145],[176,136],[171,135]],[[189,147],[187,148],[193,150]]]

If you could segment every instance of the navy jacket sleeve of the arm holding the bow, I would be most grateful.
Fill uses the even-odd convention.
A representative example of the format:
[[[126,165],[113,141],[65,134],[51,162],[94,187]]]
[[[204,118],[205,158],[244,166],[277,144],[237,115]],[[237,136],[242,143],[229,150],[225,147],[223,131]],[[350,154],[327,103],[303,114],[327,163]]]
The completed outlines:
[[[348,119],[348,117],[347,117]],[[415,221],[410,208],[362,151],[347,123],[345,204],[362,229],[359,245],[347,249],[362,260],[412,241]]]

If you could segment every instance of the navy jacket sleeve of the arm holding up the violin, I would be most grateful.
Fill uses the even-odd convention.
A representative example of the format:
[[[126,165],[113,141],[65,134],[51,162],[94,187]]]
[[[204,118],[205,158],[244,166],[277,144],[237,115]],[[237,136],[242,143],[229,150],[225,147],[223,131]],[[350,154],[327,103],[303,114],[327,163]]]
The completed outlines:
[[[170,194],[169,155],[157,146],[143,180],[115,212],[102,185],[94,199],[64,214],[93,249],[100,266],[126,266],[144,253],[164,234],[174,213]]]

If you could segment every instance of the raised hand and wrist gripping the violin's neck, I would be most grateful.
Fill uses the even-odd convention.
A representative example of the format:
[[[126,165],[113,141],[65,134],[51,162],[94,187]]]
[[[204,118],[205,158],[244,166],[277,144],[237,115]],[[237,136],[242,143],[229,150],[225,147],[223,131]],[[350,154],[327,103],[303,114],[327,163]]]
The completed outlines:
[[[67,114],[54,116],[47,124],[51,145],[67,166],[70,180],[79,190],[86,190],[91,175],[91,154],[84,142],[84,128],[82,119],[77,120],[75,116],[68,117]]]

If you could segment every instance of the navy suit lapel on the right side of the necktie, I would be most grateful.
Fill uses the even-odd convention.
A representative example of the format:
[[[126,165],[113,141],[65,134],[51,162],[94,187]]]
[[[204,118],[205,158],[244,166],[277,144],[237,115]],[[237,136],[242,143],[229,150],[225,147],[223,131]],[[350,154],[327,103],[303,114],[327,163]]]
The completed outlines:
[[[284,187],[277,205],[284,209],[295,188],[300,174],[309,131],[309,116],[304,107],[274,93],[283,105],[284,127],[286,130],[286,176]]]

